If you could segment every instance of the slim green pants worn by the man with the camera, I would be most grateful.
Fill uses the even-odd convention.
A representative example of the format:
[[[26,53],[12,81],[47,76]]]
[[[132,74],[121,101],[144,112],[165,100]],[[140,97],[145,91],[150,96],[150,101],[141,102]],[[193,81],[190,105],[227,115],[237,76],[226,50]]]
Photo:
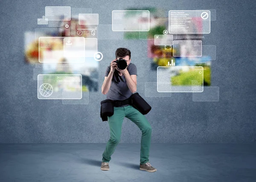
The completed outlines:
[[[127,117],[134,122],[142,132],[141,148],[140,148],[140,164],[148,162],[149,148],[151,142],[152,128],[147,118],[131,105],[125,107],[114,107],[114,114],[108,117],[108,125],[110,128],[110,139],[107,142],[106,149],[102,154],[102,162],[109,162],[111,155],[116,149],[116,145],[121,138],[122,122]]]

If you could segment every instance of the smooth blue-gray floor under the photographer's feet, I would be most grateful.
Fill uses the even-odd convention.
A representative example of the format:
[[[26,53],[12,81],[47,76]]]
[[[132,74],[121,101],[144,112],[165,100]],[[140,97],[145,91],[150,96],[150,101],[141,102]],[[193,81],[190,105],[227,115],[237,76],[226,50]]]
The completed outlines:
[[[256,144],[151,144],[154,173],[139,170],[140,144],[0,144],[1,182],[255,182]]]

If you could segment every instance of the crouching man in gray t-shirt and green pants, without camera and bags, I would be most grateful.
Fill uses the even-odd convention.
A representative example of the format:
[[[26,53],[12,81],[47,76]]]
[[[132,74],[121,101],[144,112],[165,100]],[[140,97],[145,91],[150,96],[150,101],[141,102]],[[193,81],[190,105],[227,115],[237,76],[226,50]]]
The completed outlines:
[[[127,67],[124,70],[117,68],[114,61],[122,58],[126,61]],[[116,49],[116,59],[108,66],[105,73],[105,80],[102,84],[102,94],[107,94],[110,100],[126,100],[137,90],[137,68],[131,62],[131,51],[127,48]],[[115,71],[117,71],[115,73]],[[119,82],[114,77],[119,78]],[[122,122],[127,117],[134,122],[142,131],[141,148],[140,148],[140,170],[154,172],[157,171],[148,162],[149,148],[151,142],[151,125],[146,117],[131,105],[121,105],[114,107],[114,114],[108,117],[108,125],[110,128],[110,139],[106,145],[106,149],[102,154],[101,170],[109,170],[109,161],[111,155],[116,149],[116,145],[121,138]]]

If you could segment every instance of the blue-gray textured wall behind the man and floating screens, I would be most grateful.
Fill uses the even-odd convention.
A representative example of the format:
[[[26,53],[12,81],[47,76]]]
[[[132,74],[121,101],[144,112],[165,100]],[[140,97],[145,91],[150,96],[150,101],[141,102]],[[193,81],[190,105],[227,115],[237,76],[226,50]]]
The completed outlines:
[[[147,115],[154,143],[256,142],[255,9],[256,3],[225,0],[96,1],[1,1],[0,2],[0,143],[105,143],[108,122],[99,117],[105,96],[91,92],[88,105],[63,105],[61,100],[38,100],[33,66],[23,57],[24,32],[37,28],[45,6],[92,8],[99,24],[111,24],[111,11],[153,6],[166,10],[216,9],[217,20],[205,45],[217,46],[212,61],[212,86],[220,88],[219,102],[193,102],[192,93],[172,97],[144,97],[145,82],[155,82],[149,70],[145,40],[99,40],[99,85],[106,66],[118,47],[132,52],[138,68],[137,91],[151,104]],[[244,3],[246,2],[246,3]],[[140,142],[140,129],[124,120],[121,142]]]

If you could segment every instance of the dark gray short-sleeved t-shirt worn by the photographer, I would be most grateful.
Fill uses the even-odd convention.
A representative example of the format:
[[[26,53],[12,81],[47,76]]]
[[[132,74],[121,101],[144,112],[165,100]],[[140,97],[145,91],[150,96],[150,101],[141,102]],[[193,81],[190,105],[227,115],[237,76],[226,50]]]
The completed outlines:
[[[133,63],[130,63],[127,66],[127,71],[130,75],[137,75],[137,67]],[[108,77],[108,74],[110,72],[110,65],[106,69],[105,77]],[[125,100],[131,97],[132,92],[128,88],[128,85],[125,80],[125,76],[120,76],[118,74],[120,82],[115,82],[113,79],[111,80],[111,86],[109,88],[109,91],[107,93],[107,99],[111,100]]]

